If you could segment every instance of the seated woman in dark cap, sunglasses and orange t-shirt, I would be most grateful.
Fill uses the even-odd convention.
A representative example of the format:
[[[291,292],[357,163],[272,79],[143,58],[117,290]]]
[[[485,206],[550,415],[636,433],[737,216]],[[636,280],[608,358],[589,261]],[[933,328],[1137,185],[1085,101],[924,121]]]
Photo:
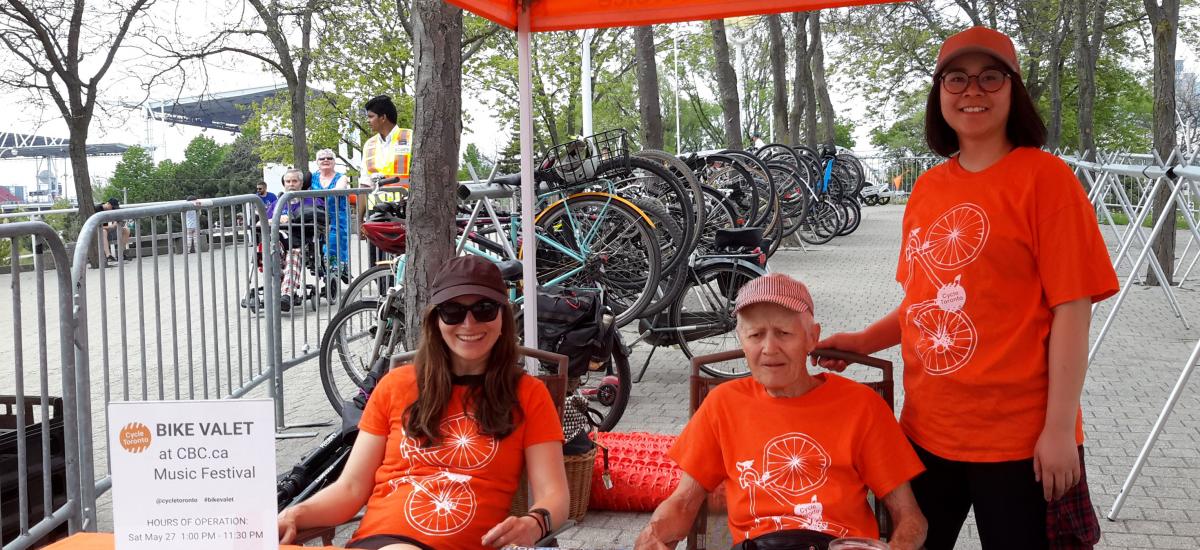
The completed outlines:
[[[566,519],[563,429],[546,387],[523,372],[500,270],[454,258],[434,281],[413,365],[379,381],[342,476],[280,514],[296,530],[366,515],[347,548],[533,545]],[[510,516],[521,472],[530,513]]]

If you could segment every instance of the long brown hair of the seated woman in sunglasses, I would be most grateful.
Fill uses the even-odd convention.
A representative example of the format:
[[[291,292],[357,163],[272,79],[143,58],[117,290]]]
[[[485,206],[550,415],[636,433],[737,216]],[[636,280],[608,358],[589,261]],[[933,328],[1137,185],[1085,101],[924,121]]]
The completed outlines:
[[[450,403],[454,383],[450,347],[442,339],[436,307],[426,307],[421,318],[421,343],[413,359],[418,396],[404,411],[404,430],[421,446],[430,447],[442,441],[442,417]],[[517,385],[524,370],[517,363],[516,322],[510,305],[500,309],[500,337],[487,358],[484,383],[468,387],[463,403],[463,411],[474,418],[480,432],[496,438],[512,434],[523,414]]]

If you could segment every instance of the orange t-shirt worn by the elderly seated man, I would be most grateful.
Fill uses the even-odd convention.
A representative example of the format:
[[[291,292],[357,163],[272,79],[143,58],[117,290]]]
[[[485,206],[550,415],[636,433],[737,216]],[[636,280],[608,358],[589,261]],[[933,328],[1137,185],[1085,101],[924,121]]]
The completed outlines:
[[[816,378],[799,397],[754,378],[718,385],[667,452],[706,490],[725,482],[734,543],[782,530],[877,538],[866,489],[886,496],[924,470],[882,397]]]

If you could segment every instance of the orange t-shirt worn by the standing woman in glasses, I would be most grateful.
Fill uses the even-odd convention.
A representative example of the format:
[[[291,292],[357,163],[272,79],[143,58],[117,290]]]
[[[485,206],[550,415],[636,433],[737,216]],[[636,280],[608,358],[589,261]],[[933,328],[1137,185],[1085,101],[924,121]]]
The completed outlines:
[[[914,443],[950,460],[1033,456],[1045,424],[1051,307],[1117,292],[1084,187],[1060,159],[1018,148],[983,172],[956,159],[917,180],[896,281]],[[1081,416],[1076,441],[1084,442]]]

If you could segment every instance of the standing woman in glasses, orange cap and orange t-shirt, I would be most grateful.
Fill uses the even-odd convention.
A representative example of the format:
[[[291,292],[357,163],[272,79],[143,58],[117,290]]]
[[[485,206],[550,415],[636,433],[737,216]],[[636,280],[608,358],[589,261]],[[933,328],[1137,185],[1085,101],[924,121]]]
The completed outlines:
[[[985,550],[1091,548],[1079,400],[1091,305],[1117,280],[1082,186],[1039,149],[1045,126],[1007,36],[976,26],[942,44],[925,139],[949,160],[905,209],[904,300],[818,347],[901,346],[929,550],[954,548],[972,507]]]

